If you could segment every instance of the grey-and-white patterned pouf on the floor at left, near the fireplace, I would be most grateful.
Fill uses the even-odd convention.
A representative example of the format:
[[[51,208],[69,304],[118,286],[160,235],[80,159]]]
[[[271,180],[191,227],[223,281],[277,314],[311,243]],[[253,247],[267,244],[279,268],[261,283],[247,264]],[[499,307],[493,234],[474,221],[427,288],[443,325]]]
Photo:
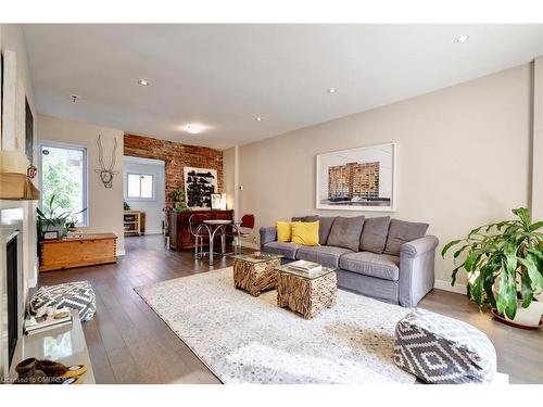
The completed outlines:
[[[40,287],[31,296],[28,310],[36,314],[42,306],[75,309],[81,321],[92,319],[97,311],[94,291],[88,281]]]

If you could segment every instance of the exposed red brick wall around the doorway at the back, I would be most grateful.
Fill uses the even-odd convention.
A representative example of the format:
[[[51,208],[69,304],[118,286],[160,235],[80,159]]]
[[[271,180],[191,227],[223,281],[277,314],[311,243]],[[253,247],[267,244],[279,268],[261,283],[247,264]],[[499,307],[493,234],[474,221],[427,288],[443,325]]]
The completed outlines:
[[[166,206],[172,207],[169,193],[176,188],[185,188],[184,167],[212,168],[217,170],[218,192],[223,192],[223,152],[206,147],[186,145],[168,140],[125,135],[124,154],[165,162]]]

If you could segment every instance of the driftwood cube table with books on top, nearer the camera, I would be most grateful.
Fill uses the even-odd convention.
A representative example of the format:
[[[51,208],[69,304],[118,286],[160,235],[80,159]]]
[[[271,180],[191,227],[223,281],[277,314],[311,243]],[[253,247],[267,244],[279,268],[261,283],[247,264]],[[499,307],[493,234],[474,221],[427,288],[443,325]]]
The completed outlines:
[[[276,267],[276,271],[277,305],[280,307],[288,307],[310,319],[336,304],[336,268],[323,266],[320,271],[308,275],[287,264]]]

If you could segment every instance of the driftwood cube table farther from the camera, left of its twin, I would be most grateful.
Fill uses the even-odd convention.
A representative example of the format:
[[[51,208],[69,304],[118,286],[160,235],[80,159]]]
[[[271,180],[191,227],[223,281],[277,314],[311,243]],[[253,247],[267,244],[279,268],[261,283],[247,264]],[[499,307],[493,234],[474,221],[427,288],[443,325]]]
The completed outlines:
[[[275,289],[275,269],[281,265],[281,257],[279,254],[268,253],[233,255],[233,285],[249,291],[252,296]]]

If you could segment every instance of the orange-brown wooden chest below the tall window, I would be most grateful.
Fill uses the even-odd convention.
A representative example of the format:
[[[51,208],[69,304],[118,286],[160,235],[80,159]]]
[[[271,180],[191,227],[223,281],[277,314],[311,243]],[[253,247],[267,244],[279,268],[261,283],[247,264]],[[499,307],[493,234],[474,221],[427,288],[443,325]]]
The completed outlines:
[[[116,263],[116,241],[113,233],[88,233],[80,238],[41,240],[39,242],[39,270]]]

